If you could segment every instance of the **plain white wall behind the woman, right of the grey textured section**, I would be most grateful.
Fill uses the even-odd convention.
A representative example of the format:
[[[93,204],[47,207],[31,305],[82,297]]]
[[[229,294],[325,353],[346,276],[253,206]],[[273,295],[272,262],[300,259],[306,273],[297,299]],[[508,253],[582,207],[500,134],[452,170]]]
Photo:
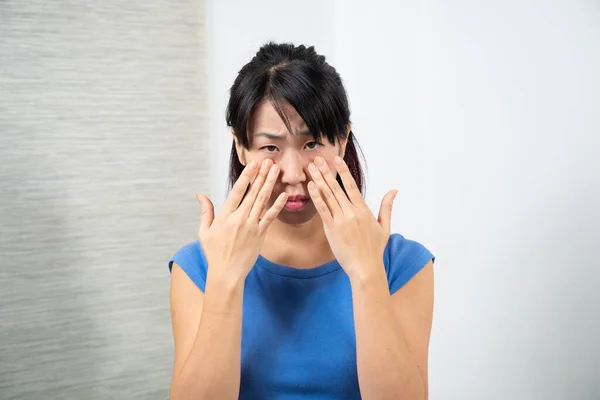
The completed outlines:
[[[398,189],[394,230],[437,256],[431,399],[600,398],[599,7],[483,3],[209,2],[213,198],[235,72],[266,39],[315,44],[369,204]]]

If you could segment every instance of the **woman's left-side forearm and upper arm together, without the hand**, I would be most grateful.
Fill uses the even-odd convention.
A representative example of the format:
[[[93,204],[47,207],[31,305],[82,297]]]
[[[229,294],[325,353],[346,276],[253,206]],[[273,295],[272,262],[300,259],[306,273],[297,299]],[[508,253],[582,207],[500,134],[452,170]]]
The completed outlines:
[[[243,280],[211,280],[203,294],[177,264],[171,278],[175,362],[171,399],[237,399]]]

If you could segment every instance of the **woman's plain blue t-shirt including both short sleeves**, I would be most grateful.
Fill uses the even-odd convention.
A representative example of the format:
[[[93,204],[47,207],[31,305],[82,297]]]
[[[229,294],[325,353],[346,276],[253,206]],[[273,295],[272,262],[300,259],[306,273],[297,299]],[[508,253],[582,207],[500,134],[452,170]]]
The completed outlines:
[[[421,244],[390,235],[384,252],[390,293],[433,255]],[[207,265],[198,241],[176,262],[204,292]],[[244,287],[243,400],[360,399],[350,280],[337,261],[297,269],[259,256]]]

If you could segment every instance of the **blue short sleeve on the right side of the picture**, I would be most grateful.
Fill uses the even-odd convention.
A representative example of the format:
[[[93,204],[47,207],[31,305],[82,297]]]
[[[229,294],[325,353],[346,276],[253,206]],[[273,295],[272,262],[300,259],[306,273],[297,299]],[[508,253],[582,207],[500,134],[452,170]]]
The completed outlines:
[[[390,235],[383,257],[390,294],[410,281],[429,261],[435,261],[425,246],[398,233]]]

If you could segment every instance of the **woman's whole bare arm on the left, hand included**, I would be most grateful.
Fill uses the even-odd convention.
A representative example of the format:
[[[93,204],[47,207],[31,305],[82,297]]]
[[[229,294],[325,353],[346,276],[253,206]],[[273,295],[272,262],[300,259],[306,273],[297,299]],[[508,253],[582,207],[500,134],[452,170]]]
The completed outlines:
[[[202,206],[198,239],[210,268],[202,294],[181,267],[173,264],[172,400],[239,397],[244,282],[260,254],[268,226],[285,205],[287,197],[281,193],[263,213],[278,174],[279,167],[270,159],[262,162],[260,171],[258,163],[251,162],[216,217],[210,199],[198,196]]]

